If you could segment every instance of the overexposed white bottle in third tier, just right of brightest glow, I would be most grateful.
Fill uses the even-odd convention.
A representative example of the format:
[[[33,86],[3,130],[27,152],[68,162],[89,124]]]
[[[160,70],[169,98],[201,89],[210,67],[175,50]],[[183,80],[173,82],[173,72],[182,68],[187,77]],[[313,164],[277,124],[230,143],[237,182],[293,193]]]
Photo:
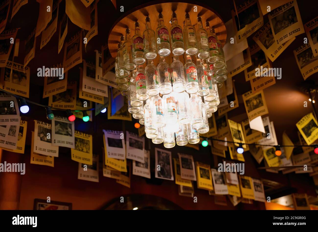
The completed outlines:
[[[175,93],[177,98],[177,113],[181,124],[191,122],[190,98],[187,92]]]

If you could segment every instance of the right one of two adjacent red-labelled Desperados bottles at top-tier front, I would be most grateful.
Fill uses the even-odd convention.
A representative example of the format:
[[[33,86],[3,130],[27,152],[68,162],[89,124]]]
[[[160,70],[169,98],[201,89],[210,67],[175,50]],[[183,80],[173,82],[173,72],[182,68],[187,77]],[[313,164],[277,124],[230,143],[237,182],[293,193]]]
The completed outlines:
[[[177,14],[172,13],[172,26],[170,27],[170,41],[172,53],[176,56],[184,53],[184,42],[181,26],[178,24]]]

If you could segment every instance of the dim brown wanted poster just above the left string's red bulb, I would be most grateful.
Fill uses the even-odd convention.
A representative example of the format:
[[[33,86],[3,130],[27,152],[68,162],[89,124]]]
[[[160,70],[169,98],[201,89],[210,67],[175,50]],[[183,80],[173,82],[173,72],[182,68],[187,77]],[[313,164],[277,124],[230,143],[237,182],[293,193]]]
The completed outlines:
[[[76,110],[76,87],[76,81],[69,81],[66,91],[49,96],[49,106],[66,110]]]

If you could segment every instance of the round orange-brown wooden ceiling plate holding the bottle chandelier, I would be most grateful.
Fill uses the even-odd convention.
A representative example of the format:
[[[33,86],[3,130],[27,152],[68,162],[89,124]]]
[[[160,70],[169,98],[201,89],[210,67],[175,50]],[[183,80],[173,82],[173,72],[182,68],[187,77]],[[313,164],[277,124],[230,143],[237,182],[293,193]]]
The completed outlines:
[[[170,28],[169,23],[171,19],[171,14],[173,11],[176,12],[178,18],[178,24],[183,26],[185,13],[190,14],[190,20],[193,25],[197,28],[197,17],[202,17],[202,22],[205,24],[206,21],[210,22],[210,26],[215,28],[215,32],[218,39],[221,41],[222,45],[226,41],[226,28],[223,20],[218,15],[218,13],[208,6],[203,6],[199,4],[192,3],[158,3],[158,4],[144,4],[128,11],[121,18],[119,18],[113,25],[110,33],[108,35],[108,48],[113,58],[117,56],[117,44],[120,41],[120,36],[125,35],[126,28],[129,28],[132,36],[135,34],[135,22],[140,23],[141,32],[146,28],[145,18],[150,17],[151,28],[155,31],[158,26],[158,14],[162,12],[164,24]],[[195,8],[196,6],[196,8]],[[194,11],[196,10],[196,11]],[[205,25],[204,25],[205,28]]]

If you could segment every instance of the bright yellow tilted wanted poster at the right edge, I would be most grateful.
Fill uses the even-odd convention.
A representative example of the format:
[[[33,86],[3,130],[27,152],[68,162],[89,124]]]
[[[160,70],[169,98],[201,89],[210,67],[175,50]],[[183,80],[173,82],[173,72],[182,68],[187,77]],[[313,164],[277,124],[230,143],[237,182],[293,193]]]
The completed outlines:
[[[304,116],[299,122],[296,123],[296,126],[307,145],[312,144],[318,139],[318,126],[313,113],[308,113],[306,116]]]

